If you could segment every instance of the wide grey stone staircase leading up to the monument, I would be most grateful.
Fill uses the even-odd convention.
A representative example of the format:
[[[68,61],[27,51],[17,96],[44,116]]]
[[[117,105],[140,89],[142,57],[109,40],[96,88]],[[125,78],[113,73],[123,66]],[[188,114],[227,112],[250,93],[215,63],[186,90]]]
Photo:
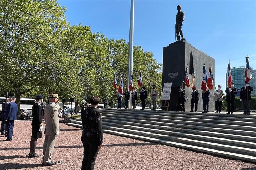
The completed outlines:
[[[256,162],[256,115],[103,109],[103,132]],[[67,125],[82,128],[81,119]]]

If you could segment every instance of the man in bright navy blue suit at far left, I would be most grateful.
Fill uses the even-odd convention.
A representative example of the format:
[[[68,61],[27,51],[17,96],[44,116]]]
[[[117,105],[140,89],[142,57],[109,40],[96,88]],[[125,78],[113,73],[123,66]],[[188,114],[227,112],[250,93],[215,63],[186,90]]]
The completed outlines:
[[[17,111],[18,106],[15,103],[15,97],[9,96],[10,103],[7,105],[6,112],[5,112],[5,121],[7,126],[7,139],[3,141],[11,141],[12,140],[12,134],[13,134],[13,127],[14,127],[14,120],[17,120]]]

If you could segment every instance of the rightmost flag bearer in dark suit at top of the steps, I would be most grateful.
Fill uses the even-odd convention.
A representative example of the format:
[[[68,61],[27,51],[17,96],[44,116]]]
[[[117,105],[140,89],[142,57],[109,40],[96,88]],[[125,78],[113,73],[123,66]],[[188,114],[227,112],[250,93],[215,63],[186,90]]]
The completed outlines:
[[[252,87],[249,86],[248,83],[245,81],[245,86],[241,88],[240,91],[240,100],[242,101],[244,113],[243,114],[250,114],[250,106],[251,106],[251,91]]]

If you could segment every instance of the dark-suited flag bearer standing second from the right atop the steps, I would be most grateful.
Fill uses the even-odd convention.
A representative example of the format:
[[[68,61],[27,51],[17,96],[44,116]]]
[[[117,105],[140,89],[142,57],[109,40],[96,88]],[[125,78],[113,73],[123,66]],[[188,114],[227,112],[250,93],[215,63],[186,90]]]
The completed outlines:
[[[226,101],[227,101],[227,108],[228,113],[227,114],[233,114],[234,112],[234,102],[235,102],[235,94],[237,93],[236,87],[234,87],[234,82],[231,82],[231,88],[227,87],[226,92]]]

